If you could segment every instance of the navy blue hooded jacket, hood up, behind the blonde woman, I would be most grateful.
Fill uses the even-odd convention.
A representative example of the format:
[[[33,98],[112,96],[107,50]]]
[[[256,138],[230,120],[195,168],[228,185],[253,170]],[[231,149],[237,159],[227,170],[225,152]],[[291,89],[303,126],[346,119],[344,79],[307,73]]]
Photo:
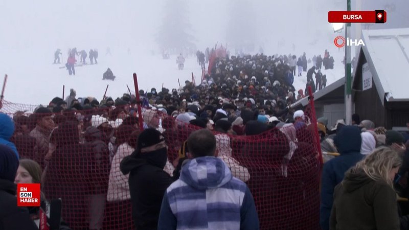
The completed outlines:
[[[360,130],[356,126],[344,126],[334,137],[334,144],[340,156],[324,164],[321,179],[320,225],[324,230],[329,229],[335,186],[344,179],[345,172],[363,157],[359,152],[361,149]]]

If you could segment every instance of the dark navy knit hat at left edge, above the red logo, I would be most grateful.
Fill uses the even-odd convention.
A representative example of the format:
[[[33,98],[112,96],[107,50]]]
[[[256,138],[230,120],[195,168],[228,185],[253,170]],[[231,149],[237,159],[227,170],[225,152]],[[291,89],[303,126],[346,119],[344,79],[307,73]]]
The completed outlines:
[[[17,168],[17,155],[10,147],[0,145],[0,178],[13,182]]]

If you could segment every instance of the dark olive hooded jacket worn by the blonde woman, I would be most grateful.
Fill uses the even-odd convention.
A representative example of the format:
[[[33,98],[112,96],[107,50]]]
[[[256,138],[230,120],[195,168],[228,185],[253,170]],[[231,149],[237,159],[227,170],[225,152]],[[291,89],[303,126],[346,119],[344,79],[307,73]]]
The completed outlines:
[[[330,229],[400,229],[395,191],[363,171],[347,172],[335,188]]]

